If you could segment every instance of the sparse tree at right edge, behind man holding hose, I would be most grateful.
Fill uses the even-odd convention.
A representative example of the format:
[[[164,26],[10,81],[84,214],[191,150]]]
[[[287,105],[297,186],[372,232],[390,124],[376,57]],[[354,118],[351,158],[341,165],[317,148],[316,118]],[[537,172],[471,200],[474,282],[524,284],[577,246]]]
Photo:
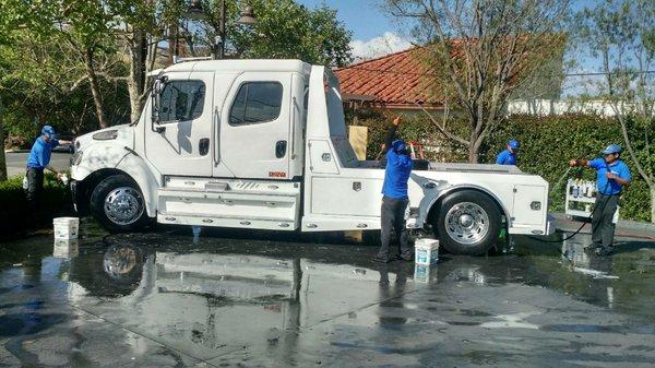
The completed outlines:
[[[575,16],[580,46],[602,61],[603,80],[596,88],[611,106],[621,127],[630,158],[651,192],[655,223],[655,2],[604,0]],[[631,129],[636,128],[636,129]],[[643,134],[642,146],[634,135]],[[641,141],[641,140],[640,140]]]

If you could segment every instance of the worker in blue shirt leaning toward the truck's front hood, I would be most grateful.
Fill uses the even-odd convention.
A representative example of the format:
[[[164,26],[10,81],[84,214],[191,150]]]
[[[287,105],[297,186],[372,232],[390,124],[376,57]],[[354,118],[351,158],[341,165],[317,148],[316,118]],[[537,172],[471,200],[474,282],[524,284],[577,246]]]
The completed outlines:
[[[50,166],[50,155],[52,149],[59,143],[70,143],[69,141],[58,141],[55,134],[55,129],[50,126],[44,126],[41,134],[36,139],[27,157],[27,204],[35,213],[38,209],[38,202],[44,189],[44,169],[48,169],[61,178],[52,166]]]

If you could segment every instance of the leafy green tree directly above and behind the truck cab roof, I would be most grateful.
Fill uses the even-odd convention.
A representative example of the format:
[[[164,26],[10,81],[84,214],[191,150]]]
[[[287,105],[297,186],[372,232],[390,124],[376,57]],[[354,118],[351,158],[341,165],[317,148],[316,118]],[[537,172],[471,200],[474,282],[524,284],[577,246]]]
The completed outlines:
[[[236,0],[227,2],[227,44],[231,58],[300,59],[309,63],[343,67],[352,61],[352,32],[336,20],[336,11],[325,5],[308,9],[293,0],[253,0],[258,23],[237,24],[240,11]],[[219,35],[221,1],[204,0],[207,19],[184,25],[191,51],[215,48]],[[196,22],[198,23],[198,22]],[[195,27],[194,27],[195,26]]]

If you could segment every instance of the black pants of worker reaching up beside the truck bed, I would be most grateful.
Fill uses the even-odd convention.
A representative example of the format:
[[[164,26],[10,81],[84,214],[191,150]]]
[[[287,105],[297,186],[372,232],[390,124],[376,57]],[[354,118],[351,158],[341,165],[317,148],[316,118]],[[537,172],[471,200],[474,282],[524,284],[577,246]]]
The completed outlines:
[[[380,250],[378,257],[389,259],[396,256],[410,258],[413,256],[409,247],[409,238],[405,222],[405,210],[409,204],[408,200],[396,200],[389,197],[382,198],[382,235]],[[398,238],[398,247],[391,249],[391,234],[395,232]]]

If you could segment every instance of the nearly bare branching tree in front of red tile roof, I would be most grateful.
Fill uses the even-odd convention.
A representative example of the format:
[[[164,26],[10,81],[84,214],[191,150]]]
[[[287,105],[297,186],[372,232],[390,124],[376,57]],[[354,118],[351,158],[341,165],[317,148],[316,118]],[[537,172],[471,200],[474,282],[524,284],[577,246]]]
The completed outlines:
[[[509,99],[537,74],[545,60],[561,57],[568,0],[386,0],[392,14],[413,22],[425,45],[426,86],[442,98],[437,129],[478,162],[480,146],[504,119]],[[467,121],[467,136],[448,130],[449,120]]]

